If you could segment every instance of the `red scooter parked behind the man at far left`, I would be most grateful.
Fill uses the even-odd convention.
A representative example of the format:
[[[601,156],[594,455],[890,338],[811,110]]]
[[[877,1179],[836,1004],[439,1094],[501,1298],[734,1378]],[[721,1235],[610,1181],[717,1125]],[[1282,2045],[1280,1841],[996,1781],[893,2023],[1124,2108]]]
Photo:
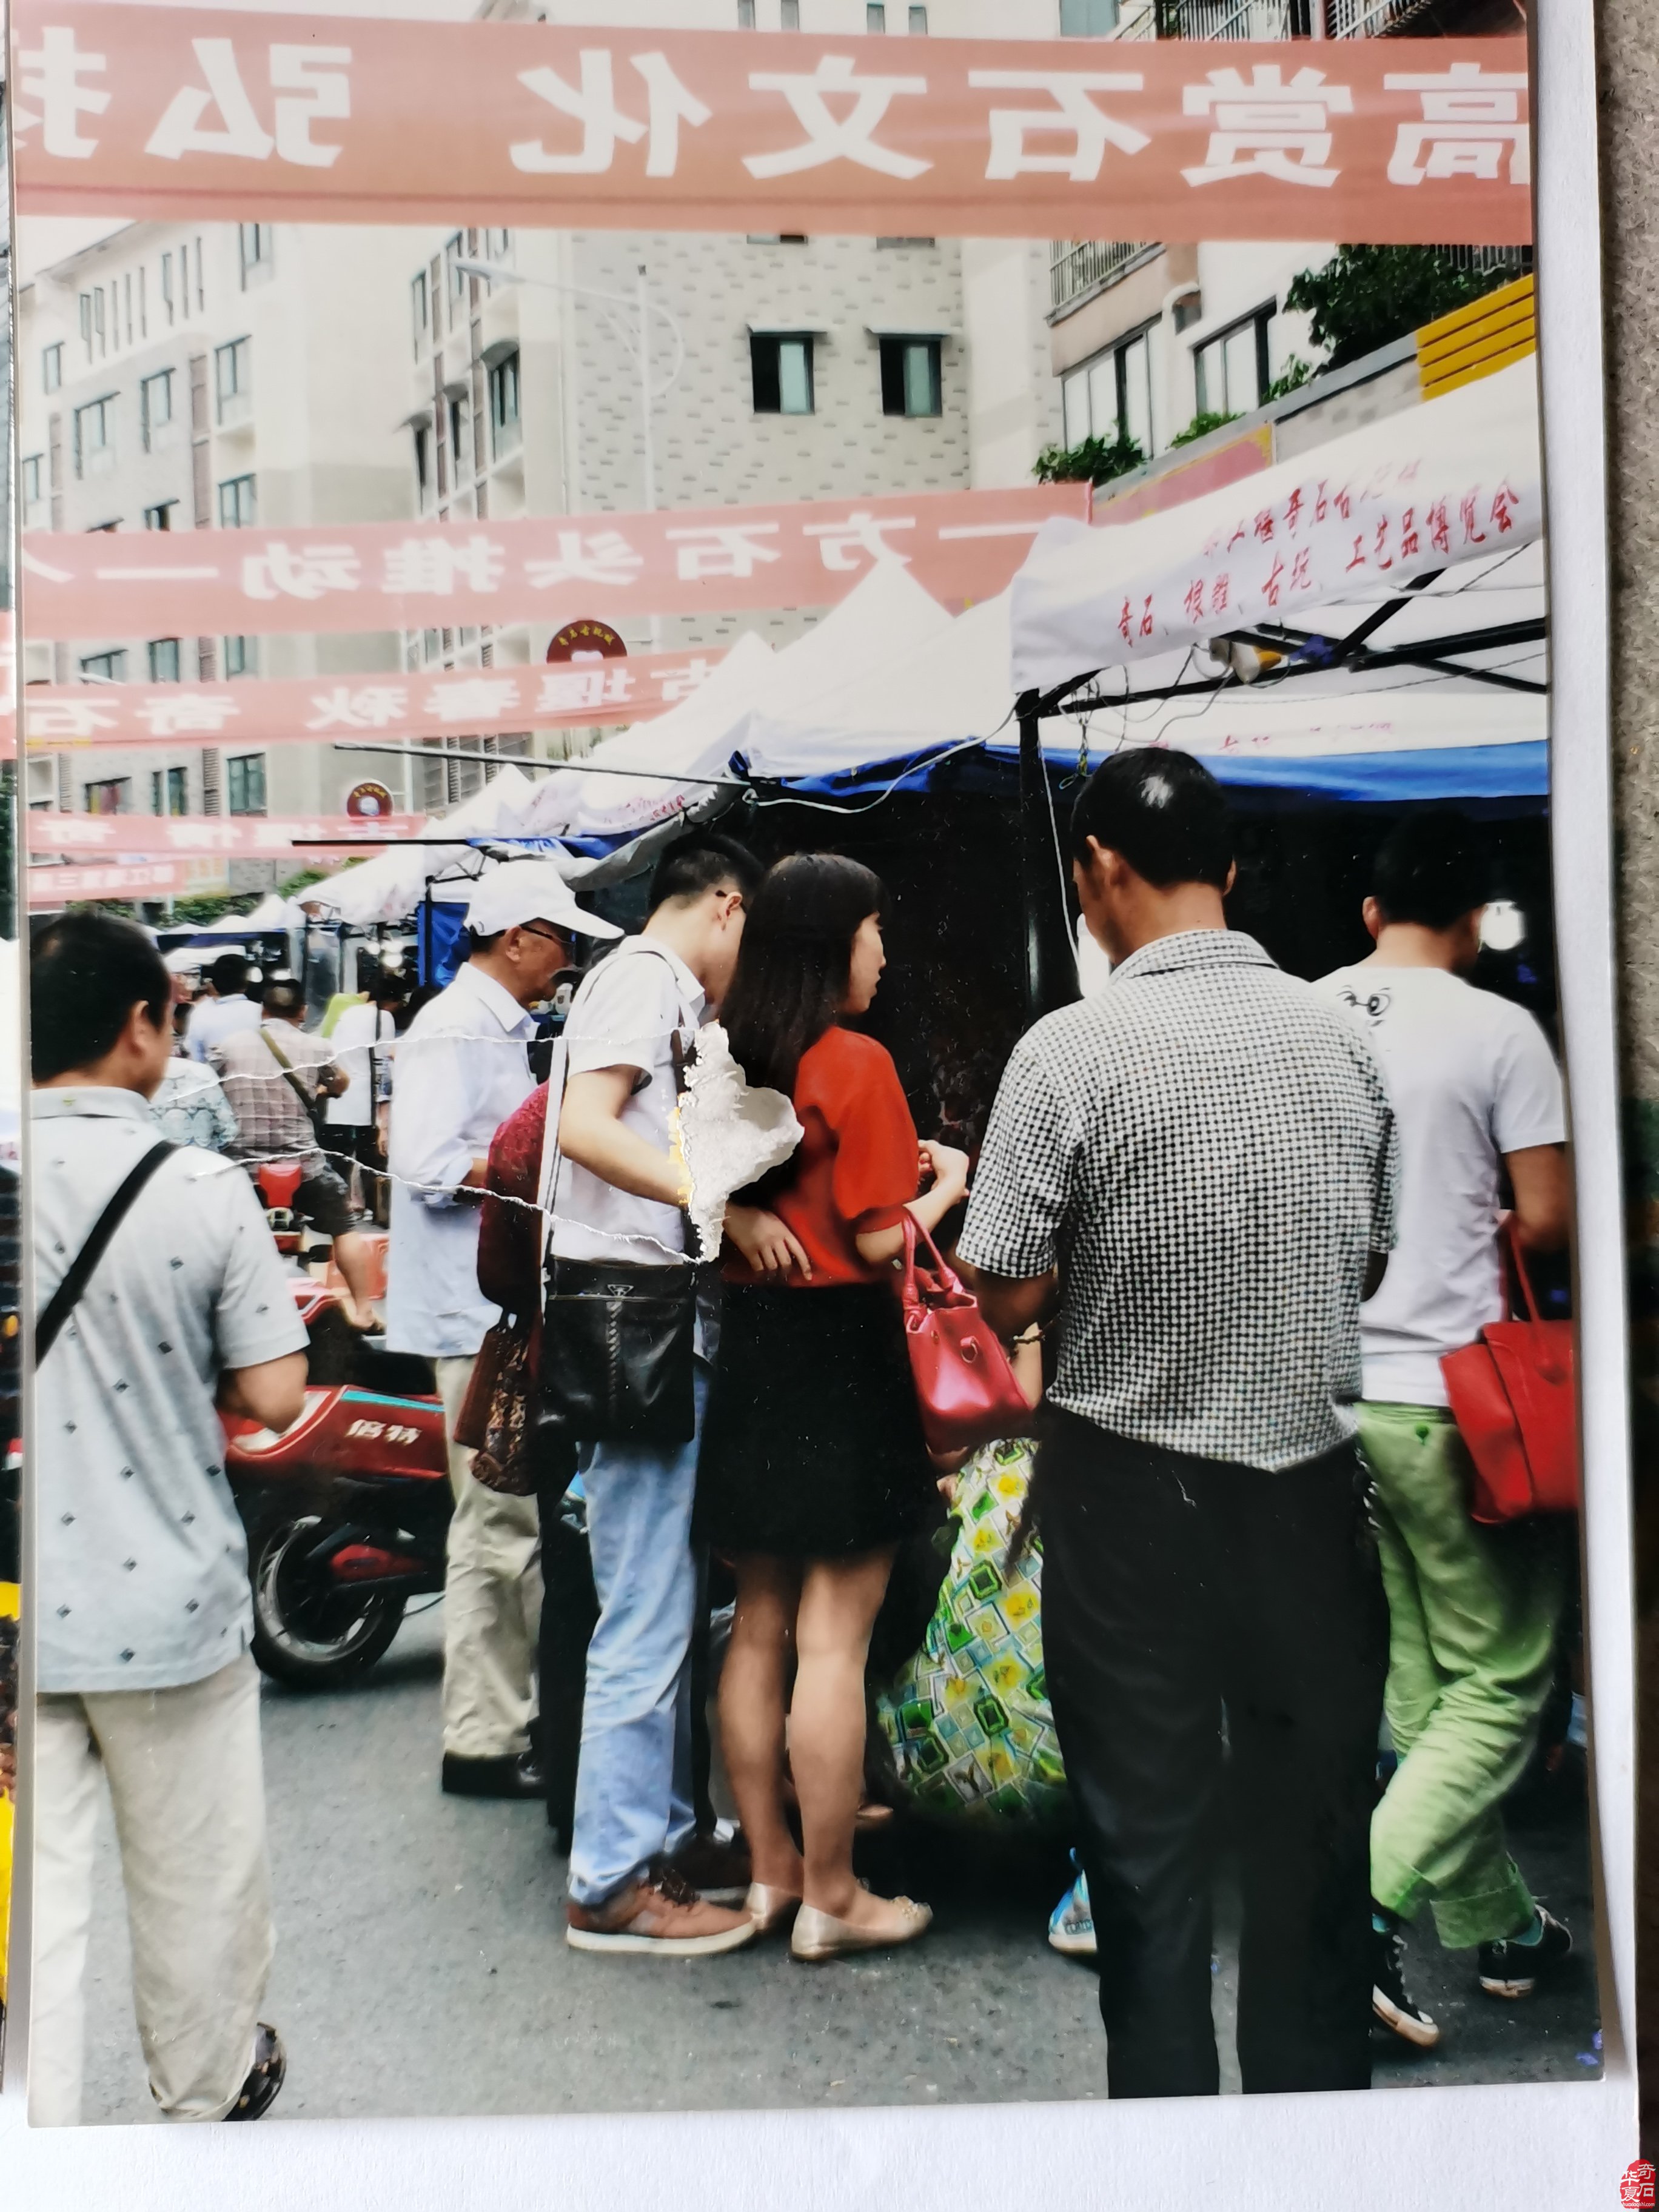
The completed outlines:
[[[305,1411],[283,1436],[226,1420],[226,1473],[248,1531],[254,1659],[325,1690],[380,1659],[411,1597],[442,1590],[449,1455],[431,1360],[361,1336],[325,1285],[296,1281],[294,1301]]]

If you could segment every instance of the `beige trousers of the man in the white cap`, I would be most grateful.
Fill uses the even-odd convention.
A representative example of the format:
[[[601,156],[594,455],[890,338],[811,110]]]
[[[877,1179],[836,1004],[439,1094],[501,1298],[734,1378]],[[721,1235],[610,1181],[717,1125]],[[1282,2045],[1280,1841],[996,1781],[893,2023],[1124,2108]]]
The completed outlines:
[[[473,1455],[453,1442],[473,1363],[436,1365],[456,1493],[445,1575],[445,1752],[507,1759],[529,1750],[535,1719],[542,1524],[533,1498],[473,1482]]]

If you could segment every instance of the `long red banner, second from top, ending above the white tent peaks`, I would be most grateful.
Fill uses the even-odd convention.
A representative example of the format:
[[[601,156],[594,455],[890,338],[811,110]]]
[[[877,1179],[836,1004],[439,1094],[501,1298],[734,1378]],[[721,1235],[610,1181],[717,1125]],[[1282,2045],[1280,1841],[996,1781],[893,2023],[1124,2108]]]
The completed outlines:
[[[1086,520],[1088,484],[511,522],[27,531],[22,602],[31,639],[619,624],[832,606],[887,557],[964,606],[995,597],[1055,515]]]

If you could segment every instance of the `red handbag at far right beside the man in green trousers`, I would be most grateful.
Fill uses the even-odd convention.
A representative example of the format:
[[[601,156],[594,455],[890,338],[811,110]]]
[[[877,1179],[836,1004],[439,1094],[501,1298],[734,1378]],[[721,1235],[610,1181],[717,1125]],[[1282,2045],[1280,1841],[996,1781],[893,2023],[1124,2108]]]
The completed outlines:
[[[1489,1524],[1579,1506],[1573,1323],[1540,1318],[1513,1214],[1504,1237],[1528,1318],[1493,1321],[1440,1360],[1475,1467],[1469,1517]]]

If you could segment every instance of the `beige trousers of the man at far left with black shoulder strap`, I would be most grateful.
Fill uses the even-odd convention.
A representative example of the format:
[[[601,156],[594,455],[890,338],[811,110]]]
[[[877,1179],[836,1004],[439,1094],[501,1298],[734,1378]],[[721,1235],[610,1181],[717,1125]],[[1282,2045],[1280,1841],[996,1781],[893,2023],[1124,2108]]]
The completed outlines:
[[[259,1674],[35,1703],[35,1973],[29,2119],[80,2121],[97,1765],[133,1936],[133,2008],[164,2119],[223,2119],[254,2062],[270,1973]]]

